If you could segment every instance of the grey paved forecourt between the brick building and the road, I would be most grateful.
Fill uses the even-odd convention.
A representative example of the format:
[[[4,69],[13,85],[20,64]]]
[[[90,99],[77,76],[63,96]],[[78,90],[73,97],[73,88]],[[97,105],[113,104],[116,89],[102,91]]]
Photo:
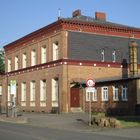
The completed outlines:
[[[96,126],[88,126],[88,114],[38,114],[24,113],[23,116],[28,118],[27,125],[49,128],[58,131],[73,131],[77,133],[89,133],[102,136],[121,137],[125,139],[140,139],[140,128],[128,129],[105,129]]]

